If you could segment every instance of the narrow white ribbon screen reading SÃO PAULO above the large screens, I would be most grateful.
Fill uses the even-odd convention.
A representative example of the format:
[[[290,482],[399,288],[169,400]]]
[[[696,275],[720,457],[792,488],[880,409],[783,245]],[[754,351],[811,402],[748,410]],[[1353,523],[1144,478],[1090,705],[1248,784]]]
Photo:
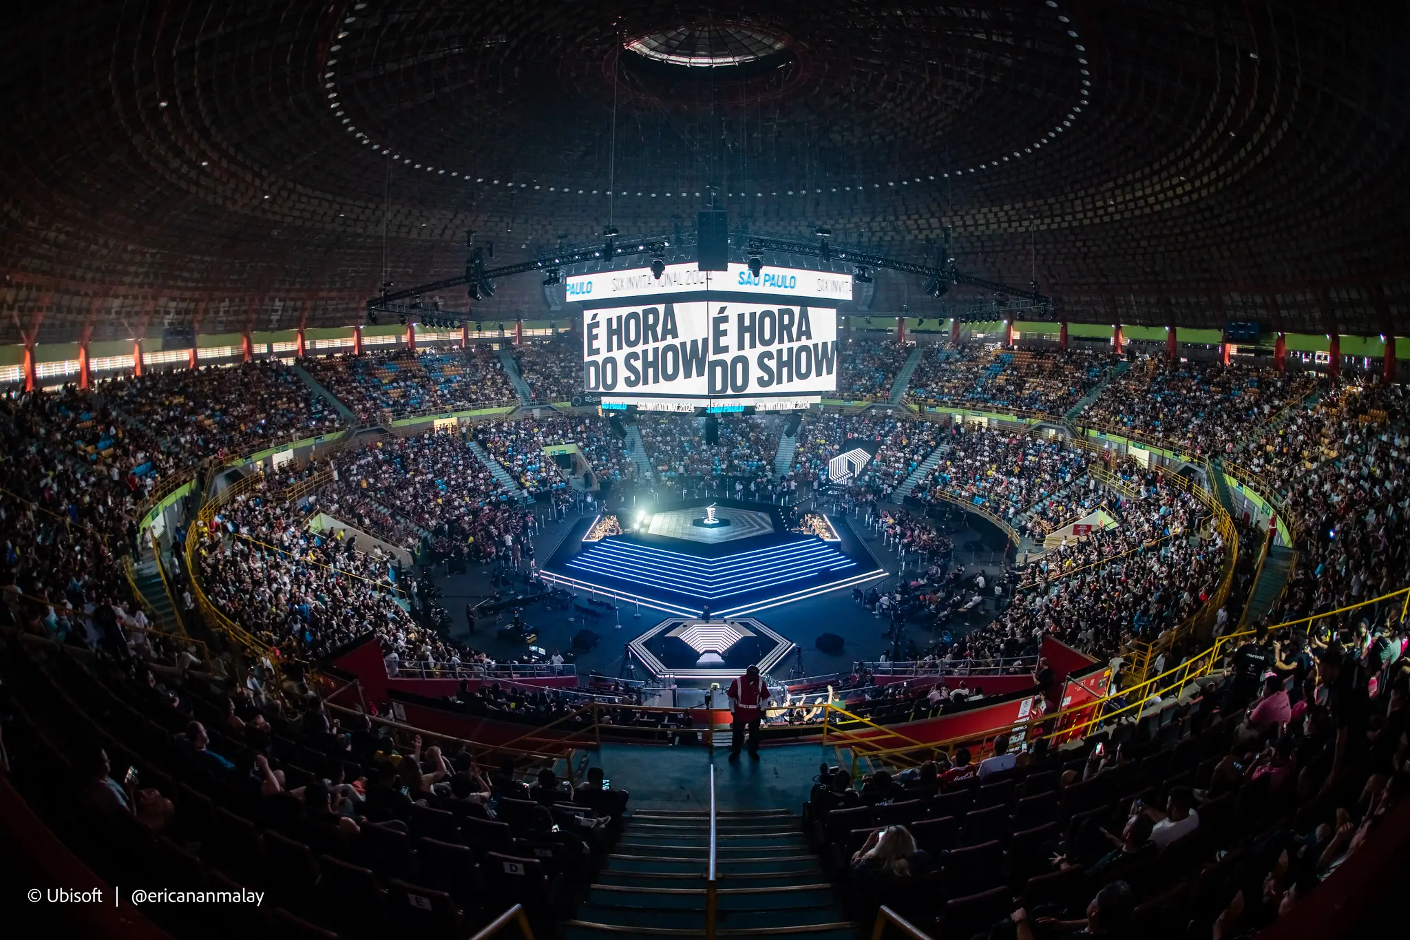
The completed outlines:
[[[565,296],[570,303],[613,303],[629,297],[657,297],[698,290],[753,293],[811,300],[852,300],[852,275],[804,268],[763,268],[756,278],[747,265],[728,271],[698,271],[694,262],[667,265],[660,278],[650,268],[570,275]]]

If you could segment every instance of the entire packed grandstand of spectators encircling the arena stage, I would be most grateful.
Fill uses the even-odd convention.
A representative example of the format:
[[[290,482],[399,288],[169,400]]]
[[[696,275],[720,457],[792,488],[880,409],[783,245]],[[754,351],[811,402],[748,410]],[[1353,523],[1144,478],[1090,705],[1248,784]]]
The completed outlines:
[[[915,347],[849,350],[839,396],[885,403]],[[451,638],[419,574],[474,564],[527,583],[546,516],[680,490],[826,505],[900,559],[885,590],[854,593],[908,624],[909,672],[794,682],[778,733],[823,729],[833,707],[883,729],[936,719],[991,699],[980,676],[1032,678],[1034,712],[1008,734],[797,781],[849,922],[887,905],[945,937],[1019,910],[1112,936],[1252,934],[1404,800],[1404,386],[933,344],[897,407],[814,409],[791,434],[784,416],[728,416],[706,443],[699,417],[623,428],[516,397],[506,368],[533,403],[563,402],[575,357],[564,341],[509,364],[489,345],[398,350],[0,399],[3,757],[20,793],[110,881],[137,867],[258,886],[288,930],[464,936],[510,901],[553,930],[630,837],[625,795],[561,785],[563,762],[533,748],[417,736],[385,700],[334,713],[330,655],[371,636],[388,675],[461,681],[444,702],[458,715],[701,744],[691,710],[647,707],[639,688],[505,679],[513,664]],[[429,412],[470,414],[398,424]],[[829,461],[863,445],[866,469],[832,483]],[[1225,471],[1273,507],[1282,544],[1207,482]],[[149,531],[188,481],[189,527]],[[987,583],[956,564],[967,513],[1007,540]],[[1273,551],[1293,555],[1285,583],[1245,610]],[[154,562],[169,616],[134,578]],[[1268,633],[1282,623],[1299,626]],[[1063,737],[1039,660],[1052,641],[1110,664],[1118,717]],[[541,886],[502,858],[534,860]]]

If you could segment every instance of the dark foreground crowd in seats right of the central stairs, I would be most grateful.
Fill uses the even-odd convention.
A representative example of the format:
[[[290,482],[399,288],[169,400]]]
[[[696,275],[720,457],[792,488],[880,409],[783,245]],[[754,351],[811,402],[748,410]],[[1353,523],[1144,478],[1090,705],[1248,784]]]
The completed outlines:
[[[860,922],[884,903],[940,936],[1253,937],[1399,839],[1410,660],[1403,626],[1379,640],[1334,633],[1285,664],[1256,637],[1065,748],[1034,740],[1058,705],[1041,671],[1026,729],[860,781],[823,764],[805,827]]]

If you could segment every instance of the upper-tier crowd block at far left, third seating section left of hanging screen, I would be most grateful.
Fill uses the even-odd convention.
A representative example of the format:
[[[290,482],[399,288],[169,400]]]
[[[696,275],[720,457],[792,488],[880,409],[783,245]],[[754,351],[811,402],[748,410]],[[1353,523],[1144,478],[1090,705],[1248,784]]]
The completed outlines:
[[[212,457],[337,430],[337,410],[279,359],[159,369],[111,379],[97,393],[164,451]]]

